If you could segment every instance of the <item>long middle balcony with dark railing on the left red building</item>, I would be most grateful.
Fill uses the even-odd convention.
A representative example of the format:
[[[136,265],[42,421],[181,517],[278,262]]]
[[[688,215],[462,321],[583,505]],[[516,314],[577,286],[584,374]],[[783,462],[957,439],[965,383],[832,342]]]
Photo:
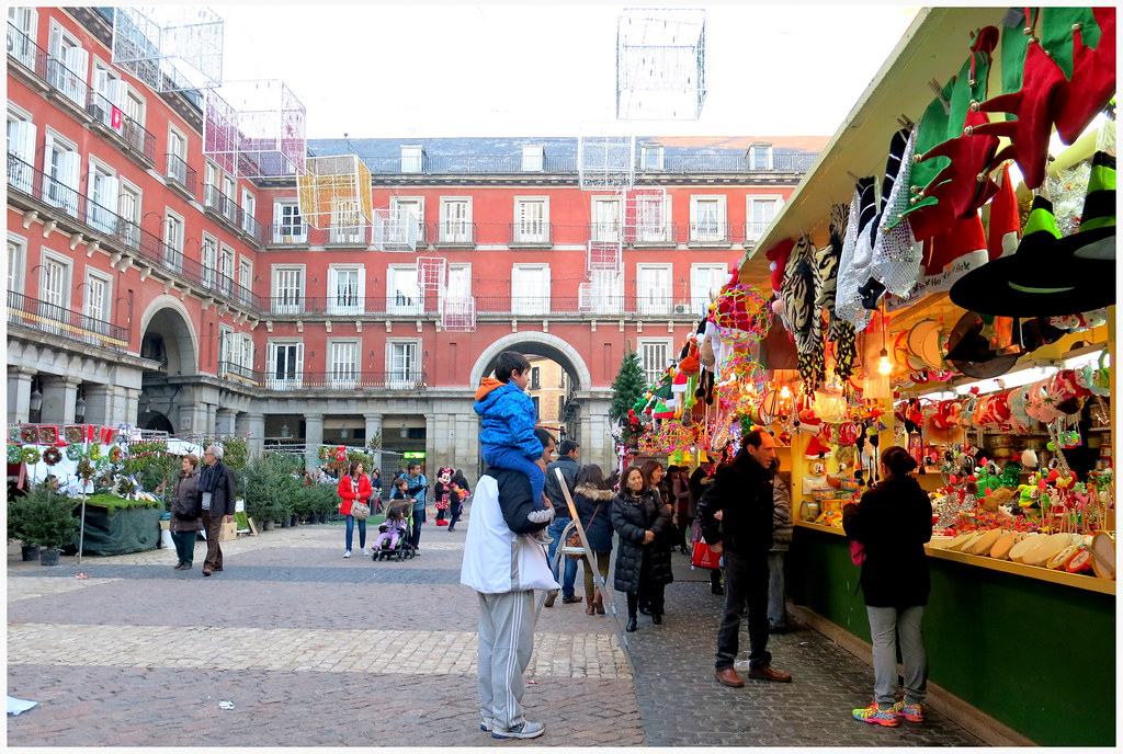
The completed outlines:
[[[22,195],[35,200],[35,203],[26,205],[36,211],[42,209],[72,218],[75,229],[91,238],[115,243],[124,254],[134,257],[138,266],[150,265],[247,307],[262,310],[259,296],[249,288],[236,285],[227,276],[216,275],[213,268],[184,257],[182,249],[172,248],[136,222],[36,171],[12,154],[8,155],[8,192],[9,202]]]

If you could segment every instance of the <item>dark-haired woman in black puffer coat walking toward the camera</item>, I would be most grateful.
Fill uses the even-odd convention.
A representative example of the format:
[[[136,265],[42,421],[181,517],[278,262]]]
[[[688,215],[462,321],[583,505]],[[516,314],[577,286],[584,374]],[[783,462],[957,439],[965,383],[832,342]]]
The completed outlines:
[[[628,595],[628,631],[636,631],[640,595],[651,606],[651,622],[663,623],[663,590],[675,580],[670,550],[659,544],[670,528],[670,512],[638,467],[628,467],[620,478],[620,491],[612,498],[612,528],[620,535],[614,586]]]

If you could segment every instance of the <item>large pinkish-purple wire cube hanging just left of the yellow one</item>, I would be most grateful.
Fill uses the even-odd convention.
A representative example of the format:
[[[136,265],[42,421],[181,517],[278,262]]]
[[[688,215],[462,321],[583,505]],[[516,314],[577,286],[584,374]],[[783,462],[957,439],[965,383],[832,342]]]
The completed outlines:
[[[203,154],[243,178],[299,175],[304,122],[304,105],[283,82],[226,82],[207,92]]]

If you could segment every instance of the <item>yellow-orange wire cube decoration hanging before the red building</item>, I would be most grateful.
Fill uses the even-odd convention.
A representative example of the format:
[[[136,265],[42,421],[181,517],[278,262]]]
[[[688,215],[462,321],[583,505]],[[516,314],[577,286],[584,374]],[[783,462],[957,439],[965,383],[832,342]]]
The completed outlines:
[[[308,157],[296,176],[296,196],[312,228],[358,228],[374,218],[371,171],[358,155]]]

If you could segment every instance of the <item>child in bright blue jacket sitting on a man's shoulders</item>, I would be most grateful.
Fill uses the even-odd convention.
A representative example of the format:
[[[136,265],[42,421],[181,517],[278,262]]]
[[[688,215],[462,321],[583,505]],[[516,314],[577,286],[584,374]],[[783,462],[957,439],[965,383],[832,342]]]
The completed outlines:
[[[487,466],[521,471],[530,479],[531,499],[542,498],[546,463],[542,443],[535,436],[538,414],[535,402],[523,390],[530,383],[530,361],[522,353],[503,351],[495,364],[495,377],[485,377],[476,390],[473,406],[483,420],[480,445]],[[536,539],[542,544],[554,540],[545,530]]]

